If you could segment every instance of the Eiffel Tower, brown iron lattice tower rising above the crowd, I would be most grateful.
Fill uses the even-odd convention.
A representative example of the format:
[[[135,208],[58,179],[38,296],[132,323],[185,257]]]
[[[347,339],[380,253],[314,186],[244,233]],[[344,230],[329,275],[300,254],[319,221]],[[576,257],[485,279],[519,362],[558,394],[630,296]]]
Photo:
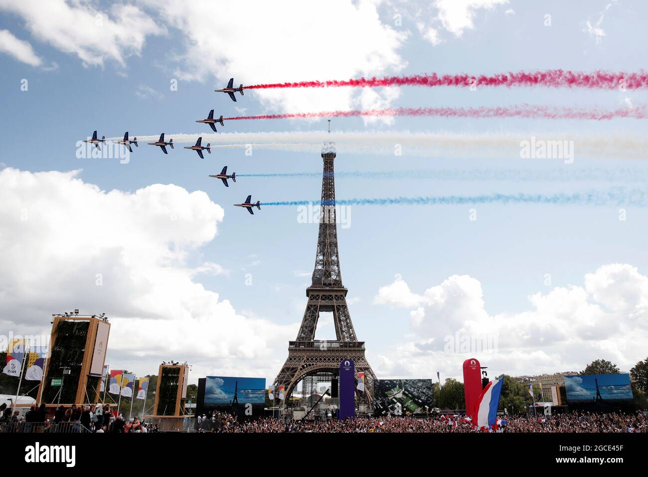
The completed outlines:
[[[295,341],[288,342],[288,359],[275,379],[275,385],[285,386],[284,406],[301,380],[319,376],[330,380],[339,373],[340,362],[354,361],[356,373],[365,373],[365,392],[356,391],[360,410],[371,411],[373,383],[376,379],[365,358],[364,341],[358,341],[347,306],[347,289],[342,285],[338,231],[335,210],[335,177],[333,161],[336,156],[332,142],[324,144],[321,207],[319,210],[318,249],[312,284],[306,289],[308,303]],[[336,341],[315,339],[320,312],[332,312]],[[356,376],[357,377],[357,376]]]

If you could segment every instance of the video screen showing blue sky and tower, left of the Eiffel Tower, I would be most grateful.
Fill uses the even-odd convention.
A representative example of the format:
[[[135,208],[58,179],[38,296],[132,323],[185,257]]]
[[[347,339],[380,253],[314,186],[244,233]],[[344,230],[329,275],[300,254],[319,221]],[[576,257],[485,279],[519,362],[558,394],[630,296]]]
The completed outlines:
[[[238,417],[263,415],[266,378],[207,376],[198,380],[196,411],[227,412]]]

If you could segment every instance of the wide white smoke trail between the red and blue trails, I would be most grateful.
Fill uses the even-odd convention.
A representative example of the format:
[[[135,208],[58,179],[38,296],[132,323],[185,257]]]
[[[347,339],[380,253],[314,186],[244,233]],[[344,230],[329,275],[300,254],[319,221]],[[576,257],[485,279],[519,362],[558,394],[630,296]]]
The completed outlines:
[[[391,156],[502,158],[520,157],[522,141],[573,141],[575,155],[581,158],[648,158],[648,139],[627,133],[601,134],[592,132],[534,134],[461,134],[454,132],[218,132],[198,134],[165,134],[174,143],[195,143],[216,148],[261,148],[277,151],[318,153],[324,141],[334,141],[338,153],[384,154]],[[137,136],[141,142],[156,141],[159,135]],[[111,138],[119,140],[121,138]]]

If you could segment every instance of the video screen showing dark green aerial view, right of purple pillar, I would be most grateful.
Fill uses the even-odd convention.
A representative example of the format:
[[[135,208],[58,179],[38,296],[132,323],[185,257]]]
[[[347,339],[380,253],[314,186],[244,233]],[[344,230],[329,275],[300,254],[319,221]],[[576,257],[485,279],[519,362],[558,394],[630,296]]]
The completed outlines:
[[[380,379],[374,384],[375,415],[425,414],[434,400],[431,379]]]

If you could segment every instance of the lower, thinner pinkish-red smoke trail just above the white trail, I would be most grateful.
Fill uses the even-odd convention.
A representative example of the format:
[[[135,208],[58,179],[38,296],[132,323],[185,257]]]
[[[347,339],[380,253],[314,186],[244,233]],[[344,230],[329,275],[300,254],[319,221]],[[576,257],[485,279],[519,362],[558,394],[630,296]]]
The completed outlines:
[[[620,108],[617,110],[557,108],[555,106],[520,106],[485,107],[480,108],[393,108],[372,109],[366,111],[329,111],[316,113],[285,113],[259,114],[258,116],[225,117],[225,120],[235,119],[311,119],[317,117],[351,117],[351,116],[436,116],[436,117],[520,117],[525,119],[613,119],[615,117],[631,117],[646,119],[648,113],[645,106],[637,108]]]

